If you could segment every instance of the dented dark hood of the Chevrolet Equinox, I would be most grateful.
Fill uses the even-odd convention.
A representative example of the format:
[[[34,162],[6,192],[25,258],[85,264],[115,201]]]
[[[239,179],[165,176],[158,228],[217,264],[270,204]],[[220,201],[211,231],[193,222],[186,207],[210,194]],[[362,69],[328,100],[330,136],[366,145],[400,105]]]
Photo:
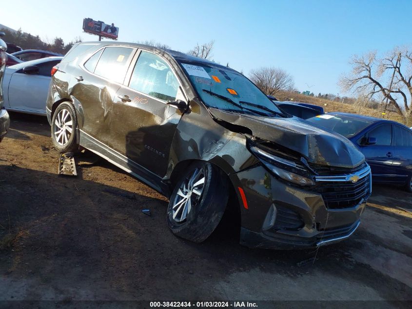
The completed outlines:
[[[309,163],[352,168],[365,157],[347,138],[298,118],[273,118],[209,109],[221,121],[247,127],[256,137],[299,152]]]

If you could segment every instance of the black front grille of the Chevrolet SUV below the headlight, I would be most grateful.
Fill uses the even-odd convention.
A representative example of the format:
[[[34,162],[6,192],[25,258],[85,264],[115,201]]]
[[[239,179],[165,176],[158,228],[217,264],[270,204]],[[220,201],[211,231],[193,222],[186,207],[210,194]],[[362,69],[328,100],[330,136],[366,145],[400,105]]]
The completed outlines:
[[[368,168],[369,170],[369,168]],[[359,172],[358,172],[359,174]],[[347,177],[342,176],[342,177]],[[371,177],[370,172],[362,173],[357,182],[342,181],[331,177],[320,177],[317,181],[315,192],[322,194],[325,206],[330,209],[350,208],[358,205],[362,199],[370,194]],[[316,178],[318,180],[319,178]]]

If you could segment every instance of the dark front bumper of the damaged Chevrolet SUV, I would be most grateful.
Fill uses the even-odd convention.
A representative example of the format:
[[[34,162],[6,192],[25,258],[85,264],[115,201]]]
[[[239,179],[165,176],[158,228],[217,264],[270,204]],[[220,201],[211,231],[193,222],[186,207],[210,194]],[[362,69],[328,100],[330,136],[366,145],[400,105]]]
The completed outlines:
[[[342,241],[359,226],[370,195],[365,187],[354,205],[327,207],[321,193],[280,181],[262,166],[233,175],[232,182],[243,188],[247,202],[246,209],[239,196],[240,243],[247,247],[302,249]]]

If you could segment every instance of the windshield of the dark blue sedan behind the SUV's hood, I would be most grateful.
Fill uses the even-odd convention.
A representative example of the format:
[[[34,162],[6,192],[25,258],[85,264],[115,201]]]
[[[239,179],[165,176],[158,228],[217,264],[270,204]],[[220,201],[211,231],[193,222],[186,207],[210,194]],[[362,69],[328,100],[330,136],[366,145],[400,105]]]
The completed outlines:
[[[318,115],[307,119],[307,121],[333,130],[346,138],[351,138],[372,124],[367,120],[331,114]]]

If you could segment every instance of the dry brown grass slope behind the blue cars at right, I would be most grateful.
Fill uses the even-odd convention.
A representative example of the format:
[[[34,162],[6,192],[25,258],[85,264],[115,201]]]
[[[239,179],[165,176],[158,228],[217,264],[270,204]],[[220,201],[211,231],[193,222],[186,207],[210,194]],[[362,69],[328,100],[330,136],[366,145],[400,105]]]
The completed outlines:
[[[280,92],[276,94],[276,98],[280,101],[295,101],[302,103],[310,103],[314,105],[322,106],[325,112],[344,112],[353,113],[366,116],[373,116],[376,118],[389,119],[401,124],[406,124],[408,127],[412,126],[412,120],[408,122],[403,121],[402,117],[395,112],[386,111],[385,115],[382,115],[383,110],[368,108],[356,104],[346,104],[341,102],[335,102],[316,97],[305,96],[303,94],[293,92]]]

